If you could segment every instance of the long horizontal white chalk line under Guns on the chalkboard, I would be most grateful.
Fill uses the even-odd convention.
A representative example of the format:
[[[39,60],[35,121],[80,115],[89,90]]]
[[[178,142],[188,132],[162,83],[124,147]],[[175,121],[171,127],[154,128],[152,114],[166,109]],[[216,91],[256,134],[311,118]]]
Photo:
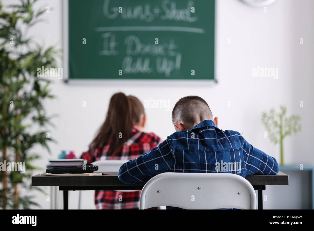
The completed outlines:
[[[201,28],[184,26],[104,26],[96,27],[95,31],[182,31],[203,34]]]

